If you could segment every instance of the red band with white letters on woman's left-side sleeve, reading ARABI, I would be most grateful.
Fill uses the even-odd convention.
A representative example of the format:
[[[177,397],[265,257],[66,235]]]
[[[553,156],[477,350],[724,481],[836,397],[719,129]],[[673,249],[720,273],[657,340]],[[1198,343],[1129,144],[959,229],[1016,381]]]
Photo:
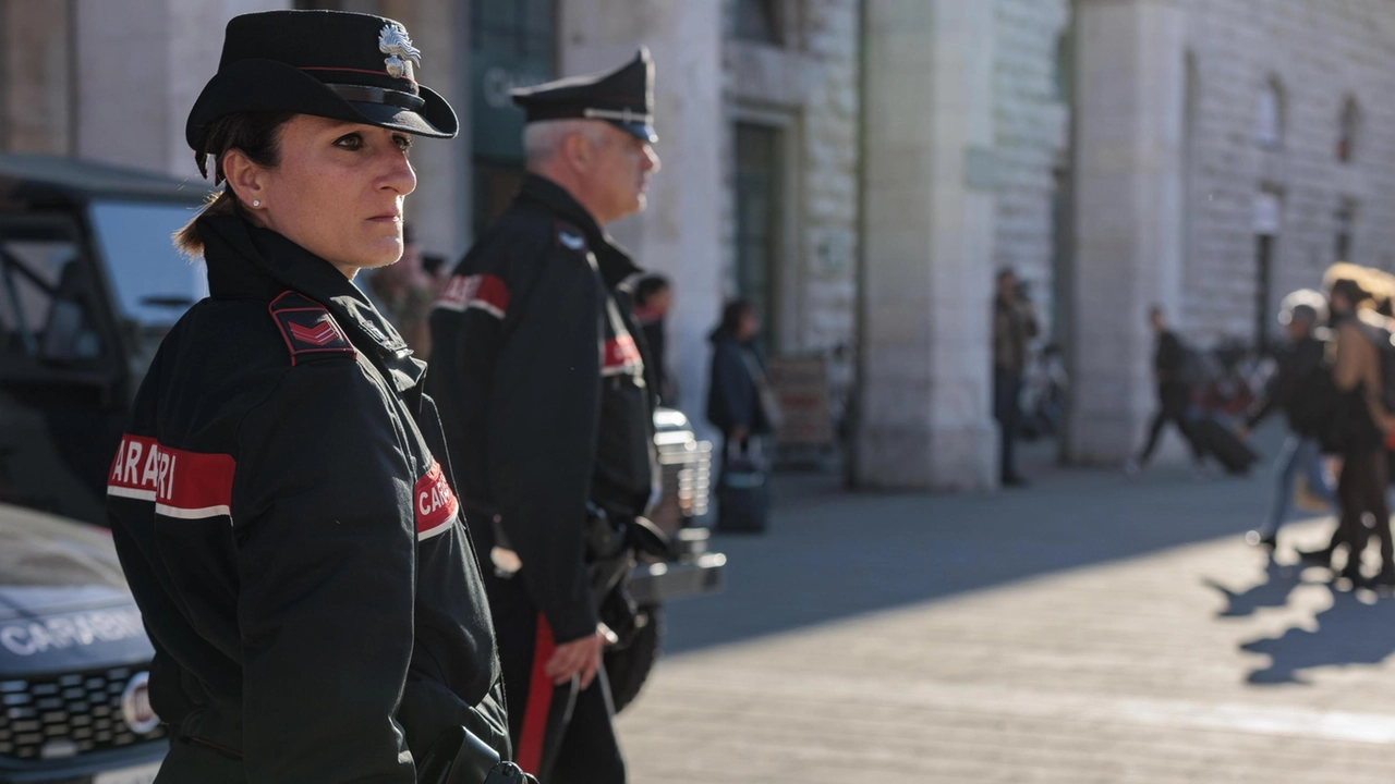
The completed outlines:
[[[106,492],[153,501],[155,512],[167,518],[232,516],[236,469],[232,455],[172,449],[153,438],[126,435],[112,462]]]

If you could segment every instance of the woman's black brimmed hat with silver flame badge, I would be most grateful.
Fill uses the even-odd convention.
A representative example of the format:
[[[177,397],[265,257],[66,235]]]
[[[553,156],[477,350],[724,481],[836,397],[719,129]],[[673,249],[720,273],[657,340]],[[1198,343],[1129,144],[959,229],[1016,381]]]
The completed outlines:
[[[264,11],[227,22],[218,73],[188,113],[199,151],[209,124],[234,112],[294,112],[451,138],[459,123],[417,84],[421,52],[393,20],[345,11]]]

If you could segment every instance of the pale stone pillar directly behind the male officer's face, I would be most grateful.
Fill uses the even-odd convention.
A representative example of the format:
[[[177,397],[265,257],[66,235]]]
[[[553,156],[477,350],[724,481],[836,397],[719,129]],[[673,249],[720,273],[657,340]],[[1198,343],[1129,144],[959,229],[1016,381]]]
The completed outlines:
[[[674,282],[668,357],[682,409],[706,425],[707,332],[721,310],[721,3],[579,0],[561,4],[561,73],[618,67],[647,45],[654,57],[654,174],[649,209],[611,226],[640,266]]]

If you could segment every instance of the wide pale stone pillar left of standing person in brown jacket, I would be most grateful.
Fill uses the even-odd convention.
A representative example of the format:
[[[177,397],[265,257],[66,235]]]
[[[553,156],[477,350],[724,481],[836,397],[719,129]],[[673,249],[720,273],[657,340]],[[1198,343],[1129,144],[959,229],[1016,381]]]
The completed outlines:
[[[988,488],[993,4],[865,0],[864,14],[854,476],[873,488]]]

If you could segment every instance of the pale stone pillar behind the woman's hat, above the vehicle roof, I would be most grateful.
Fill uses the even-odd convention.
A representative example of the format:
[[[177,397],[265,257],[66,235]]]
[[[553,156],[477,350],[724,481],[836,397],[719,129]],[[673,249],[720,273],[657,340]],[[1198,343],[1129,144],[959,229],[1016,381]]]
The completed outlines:
[[[227,20],[290,0],[77,0],[82,158],[198,177],[184,120],[218,71]]]

